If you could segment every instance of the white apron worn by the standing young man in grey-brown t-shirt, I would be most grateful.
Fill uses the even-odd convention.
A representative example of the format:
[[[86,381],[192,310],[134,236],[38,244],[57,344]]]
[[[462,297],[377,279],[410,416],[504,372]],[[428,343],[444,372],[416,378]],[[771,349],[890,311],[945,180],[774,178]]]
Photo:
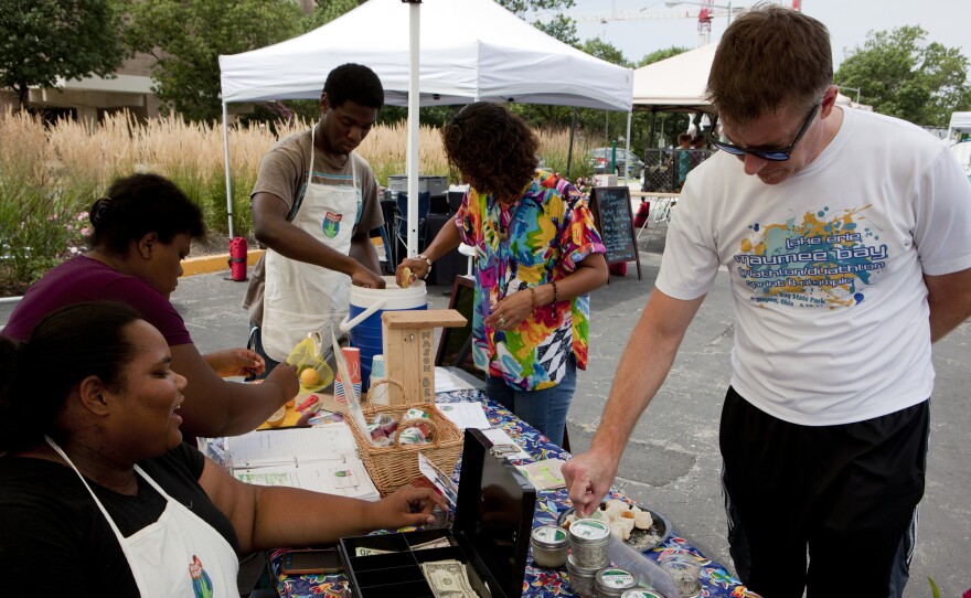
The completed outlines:
[[[313,183],[316,129],[310,134],[310,170],[307,191],[290,221],[338,253],[349,255],[361,192],[358,170],[351,160],[353,184],[350,186]],[[263,300],[263,349],[271,359],[286,361],[290,351],[307,334],[327,324],[337,325],[348,314],[351,302],[351,277],[312,264],[266,250],[266,286]],[[329,334],[324,335],[330,338]]]

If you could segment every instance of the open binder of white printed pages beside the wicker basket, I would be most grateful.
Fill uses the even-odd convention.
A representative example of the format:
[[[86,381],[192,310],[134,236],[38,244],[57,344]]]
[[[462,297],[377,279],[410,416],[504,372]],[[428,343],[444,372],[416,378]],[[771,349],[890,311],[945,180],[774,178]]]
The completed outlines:
[[[231,471],[258,485],[287,485],[369,501],[381,498],[346,424],[257,430],[226,439]]]

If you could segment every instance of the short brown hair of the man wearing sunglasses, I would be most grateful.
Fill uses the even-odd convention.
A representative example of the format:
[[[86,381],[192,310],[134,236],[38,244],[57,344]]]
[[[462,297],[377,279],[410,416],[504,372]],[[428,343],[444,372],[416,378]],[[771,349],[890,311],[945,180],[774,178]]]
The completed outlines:
[[[833,82],[833,52],[825,25],[801,12],[758,4],[722,36],[706,95],[735,125],[786,106],[807,111]]]

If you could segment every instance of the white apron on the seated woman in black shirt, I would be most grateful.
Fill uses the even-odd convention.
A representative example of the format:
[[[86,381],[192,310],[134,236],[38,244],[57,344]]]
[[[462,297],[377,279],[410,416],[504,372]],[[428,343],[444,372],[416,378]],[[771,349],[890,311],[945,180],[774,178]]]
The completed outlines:
[[[239,559],[233,546],[212,525],[169,496],[135,466],[135,471],[166,498],[167,505],[157,522],[125,537],[67,455],[52,439],[46,440],[77,473],[108,520],[142,598],[238,598]]]

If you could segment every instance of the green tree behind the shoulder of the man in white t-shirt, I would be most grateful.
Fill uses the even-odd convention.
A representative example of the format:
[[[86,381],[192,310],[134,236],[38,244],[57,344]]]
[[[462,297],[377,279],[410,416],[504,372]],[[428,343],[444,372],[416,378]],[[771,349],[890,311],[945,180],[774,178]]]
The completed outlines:
[[[930,42],[927,32],[906,25],[871,31],[863,47],[852,50],[835,81],[860,89],[860,102],[873,109],[924,126],[947,126],[954,110],[971,108],[968,58],[958,47]]]

